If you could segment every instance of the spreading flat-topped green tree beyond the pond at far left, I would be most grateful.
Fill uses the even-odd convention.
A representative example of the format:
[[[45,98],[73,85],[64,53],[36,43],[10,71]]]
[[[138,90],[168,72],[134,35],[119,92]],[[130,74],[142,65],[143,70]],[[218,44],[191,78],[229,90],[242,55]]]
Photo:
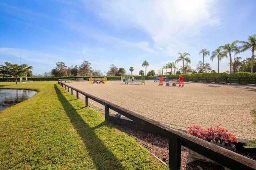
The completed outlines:
[[[28,64],[11,64],[8,62],[4,62],[4,65],[0,65],[0,73],[4,76],[13,76],[15,77],[16,84],[17,78],[20,76],[27,76],[26,74],[30,73],[30,70],[33,68],[32,66],[28,66]]]

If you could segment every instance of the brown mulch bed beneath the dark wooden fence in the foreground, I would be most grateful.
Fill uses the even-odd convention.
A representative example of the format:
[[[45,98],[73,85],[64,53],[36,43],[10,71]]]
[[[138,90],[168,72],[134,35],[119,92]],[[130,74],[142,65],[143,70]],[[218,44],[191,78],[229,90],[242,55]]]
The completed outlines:
[[[138,129],[124,127],[122,125],[115,125],[120,131],[124,131],[129,136],[136,139],[143,147],[150,151],[150,153],[156,156],[160,162],[164,163],[169,159],[169,141],[167,138],[154,135]],[[242,152],[237,151],[248,158],[256,160],[256,152]],[[168,165],[167,165],[168,166]],[[224,170],[220,165],[195,161],[188,162],[188,152],[186,147],[181,148],[181,170]]]

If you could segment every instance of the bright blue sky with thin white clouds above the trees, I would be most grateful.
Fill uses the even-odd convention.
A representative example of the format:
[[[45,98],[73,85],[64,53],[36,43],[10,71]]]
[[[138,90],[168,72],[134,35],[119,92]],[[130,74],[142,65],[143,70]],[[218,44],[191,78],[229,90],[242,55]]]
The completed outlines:
[[[256,33],[255,6],[255,0],[1,0],[0,64],[28,64],[38,75],[57,62],[89,61],[104,75],[111,64],[138,74],[147,60],[147,72],[158,73],[186,52],[195,68],[201,49],[211,53]],[[204,63],[217,71],[217,59]],[[220,72],[228,64],[222,60]]]

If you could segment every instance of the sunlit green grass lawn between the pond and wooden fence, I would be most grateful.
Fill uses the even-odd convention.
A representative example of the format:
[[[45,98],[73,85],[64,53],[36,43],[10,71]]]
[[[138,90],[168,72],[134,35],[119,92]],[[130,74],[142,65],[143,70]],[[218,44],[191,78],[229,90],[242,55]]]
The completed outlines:
[[[57,82],[0,82],[0,88],[38,91],[0,111],[1,169],[168,169]]]

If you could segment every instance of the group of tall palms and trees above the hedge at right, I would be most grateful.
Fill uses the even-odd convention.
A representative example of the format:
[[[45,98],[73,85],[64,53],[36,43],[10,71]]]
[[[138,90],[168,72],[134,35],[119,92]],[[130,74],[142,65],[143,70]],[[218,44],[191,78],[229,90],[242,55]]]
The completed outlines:
[[[252,52],[251,57],[247,57],[243,61],[241,61],[241,57],[234,57],[234,61],[232,62],[232,53],[234,53],[234,56],[243,53],[247,50],[250,50]],[[170,68],[172,74],[172,68],[174,68],[174,74],[175,70],[178,69],[176,68],[176,64],[182,61],[182,66],[179,69],[179,71],[182,71],[182,74],[187,74],[187,73],[204,73],[204,72],[216,72],[215,70],[212,70],[212,67],[210,66],[209,63],[204,63],[204,58],[207,56],[210,56],[210,60],[214,60],[215,58],[217,59],[218,62],[218,72],[220,70],[220,61],[224,58],[229,58],[230,62],[230,70],[226,70],[227,73],[232,73],[232,72],[255,72],[256,70],[256,61],[254,61],[254,51],[256,50],[256,34],[249,36],[248,41],[234,41],[232,43],[227,43],[225,45],[222,45],[218,47],[216,50],[212,51],[210,54],[210,51],[207,51],[206,49],[202,49],[199,52],[199,55],[202,54],[203,60],[199,61],[199,64],[197,64],[196,70],[193,70],[190,68],[188,64],[191,64],[191,60],[188,56],[190,56],[189,53],[178,53],[179,57],[176,61],[174,62],[169,62],[165,66],[163,66],[162,69],[166,69],[166,74],[167,69]],[[185,61],[185,63],[184,63]],[[180,72],[176,72],[180,73]]]

